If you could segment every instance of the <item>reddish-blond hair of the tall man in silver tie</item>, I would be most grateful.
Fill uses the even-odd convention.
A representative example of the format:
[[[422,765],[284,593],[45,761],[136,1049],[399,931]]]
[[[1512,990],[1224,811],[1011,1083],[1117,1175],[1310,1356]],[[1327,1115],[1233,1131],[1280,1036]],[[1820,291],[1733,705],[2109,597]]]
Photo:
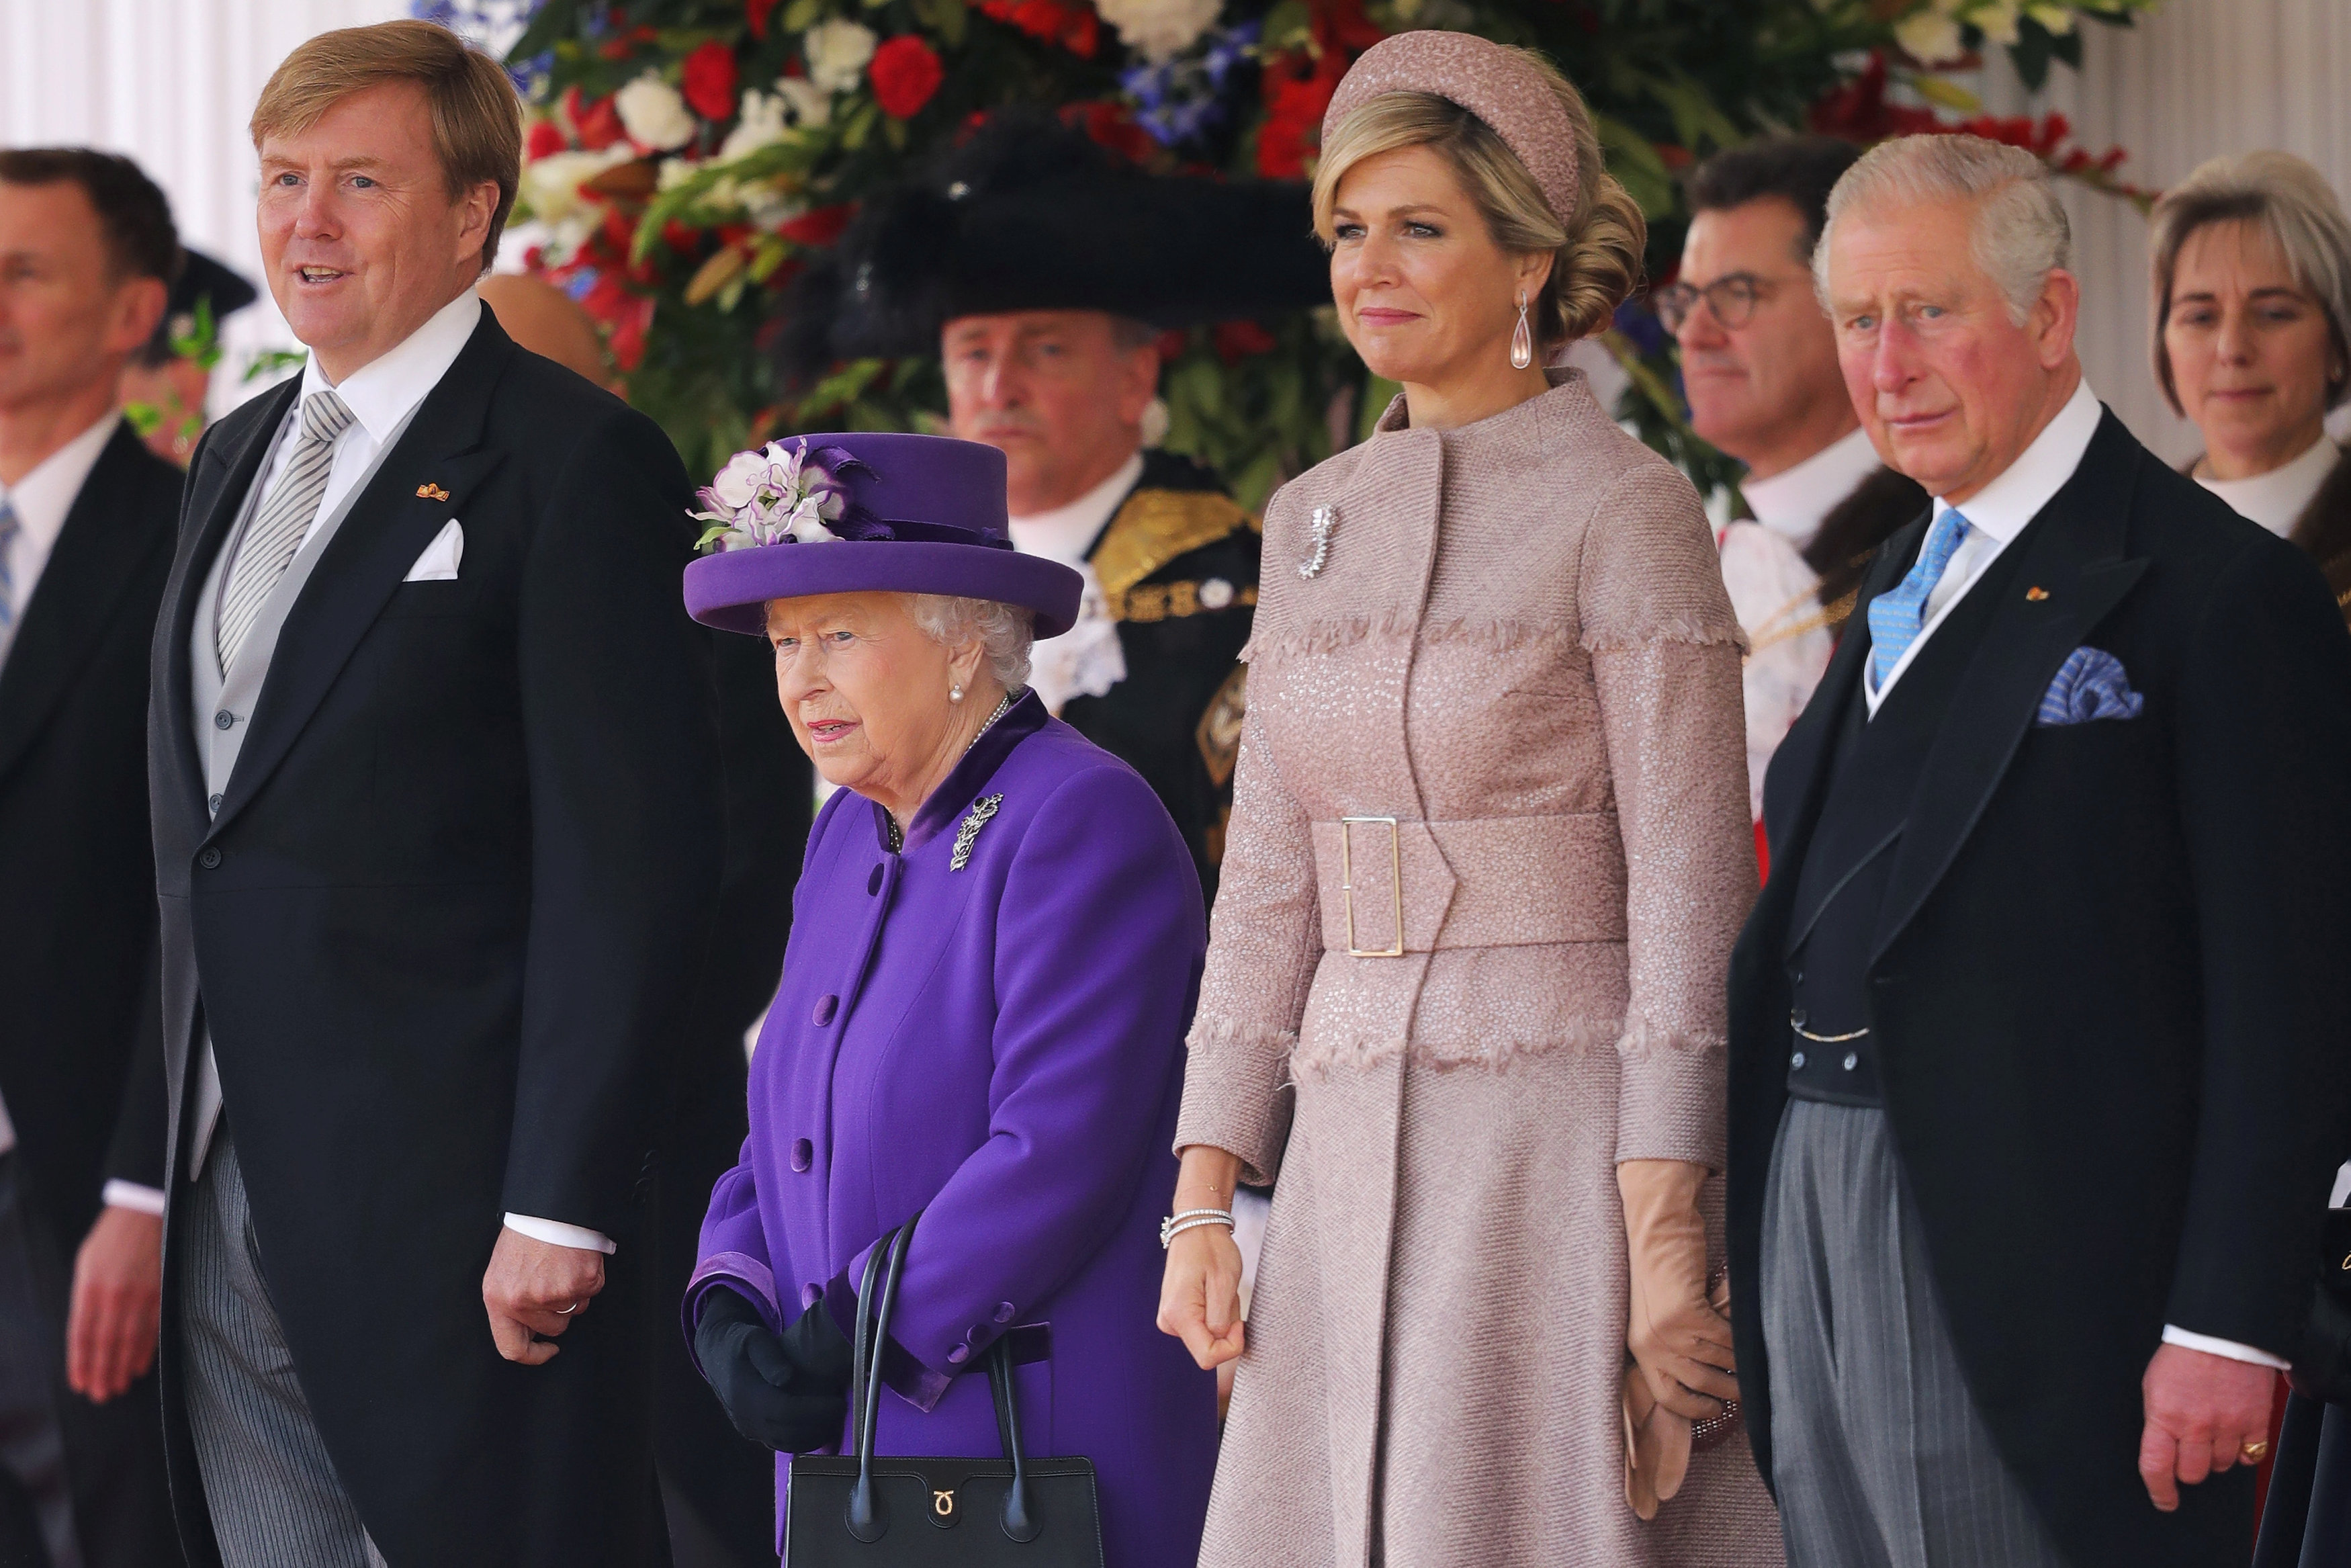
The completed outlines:
[[[522,183],[522,101],[498,61],[433,21],[379,21],[320,33],[287,54],[254,103],[254,150],[268,136],[299,136],[355,92],[416,82],[433,113],[433,153],[451,200],[494,181],[498,209],[482,240],[482,270],[498,256],[498,235]]]

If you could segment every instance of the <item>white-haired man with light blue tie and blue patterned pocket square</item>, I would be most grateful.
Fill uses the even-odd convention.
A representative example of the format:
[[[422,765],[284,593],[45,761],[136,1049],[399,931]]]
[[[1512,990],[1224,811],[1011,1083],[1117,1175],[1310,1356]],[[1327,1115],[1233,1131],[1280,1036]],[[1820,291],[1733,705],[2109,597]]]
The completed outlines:
[[[1803,1568],[2243,1563],[2351,1112],[2351,635],[2099,407],[2069,261],[1975,136],[1829,197],[1846,386],[1935,510],[1773,759],[1730,976],[1740,1392]]]

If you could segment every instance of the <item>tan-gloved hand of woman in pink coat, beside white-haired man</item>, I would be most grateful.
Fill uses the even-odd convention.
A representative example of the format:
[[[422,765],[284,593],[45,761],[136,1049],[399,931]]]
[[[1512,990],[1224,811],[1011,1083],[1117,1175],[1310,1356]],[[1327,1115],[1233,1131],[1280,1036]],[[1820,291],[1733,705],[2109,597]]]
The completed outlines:
[[[1688,1420],[1721,1415],[1721,1401],[1740,1396],[1730,1321],[1707,1300],[1707,1222],[1697,1213],[1704,1180],[1704,1166],[1679,1159],[1617,1166],[1632,1262],[1625,1347],[1650,1399]]]

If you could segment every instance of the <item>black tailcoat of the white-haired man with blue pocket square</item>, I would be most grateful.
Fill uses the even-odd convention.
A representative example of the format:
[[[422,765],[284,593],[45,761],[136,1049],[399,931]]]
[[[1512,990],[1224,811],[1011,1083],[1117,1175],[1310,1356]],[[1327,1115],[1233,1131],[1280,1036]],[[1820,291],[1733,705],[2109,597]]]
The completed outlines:
[[[1730,971],[1730,1272],[1759,1276],[1787,1103],[1787,924],[1862,703],[1888,541],[1763,790],[1773,877]],[[2243,1561],[2252,1474],[2158,1514],[2163,1326],[2285,1354],[2351,1121],[2351,637],[2316,567],[2106,414],[1942,715],[1869,957],[1886,1114],[1994,1439],[2078,1563]],[[2137,719],[2036,726],[2076,646]],[[2304,1197],[2295,1197],[2304,1194]],[[1893,1265],[1888,1265],[1893,1267]],[[1770,1476],[1756,1291],[1740,1389]]]

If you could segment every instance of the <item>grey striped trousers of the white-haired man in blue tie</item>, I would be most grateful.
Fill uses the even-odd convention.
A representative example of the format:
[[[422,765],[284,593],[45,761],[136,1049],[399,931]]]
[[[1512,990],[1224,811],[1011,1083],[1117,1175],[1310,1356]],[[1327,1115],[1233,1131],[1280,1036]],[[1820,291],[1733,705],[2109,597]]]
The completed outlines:
[[[1789,1568],[2064,1568],[1961,1380],[1883,1110],[1789,1100],[1761,1305]]]

